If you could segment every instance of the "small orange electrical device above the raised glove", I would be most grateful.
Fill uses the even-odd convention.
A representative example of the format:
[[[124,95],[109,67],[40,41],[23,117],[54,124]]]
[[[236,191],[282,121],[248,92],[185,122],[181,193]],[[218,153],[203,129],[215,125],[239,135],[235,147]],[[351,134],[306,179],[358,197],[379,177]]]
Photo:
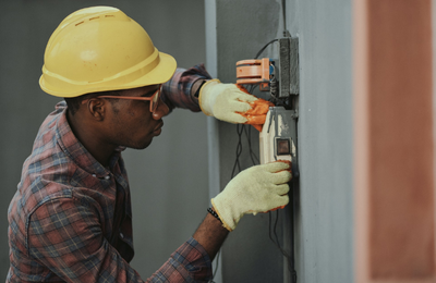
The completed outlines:
[[[249,59],[237,62],[238,85],[259,85],[262,91],[269,90],[269,58]]]

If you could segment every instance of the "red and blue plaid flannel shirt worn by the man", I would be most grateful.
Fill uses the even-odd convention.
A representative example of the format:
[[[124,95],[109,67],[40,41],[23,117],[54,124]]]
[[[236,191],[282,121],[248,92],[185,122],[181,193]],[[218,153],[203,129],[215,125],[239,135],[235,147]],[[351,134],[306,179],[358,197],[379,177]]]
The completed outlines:
[[[170,108],[199,111],[191,86],[209,78],[203,65],[178,69],[162,93]],[[8,210],[7,282],[143,282],[133,258],[128,175],[116,150],[102,167],[76,139],[57,104],[39,128]],[[190,238],[147,282],[207,282],[211,263]]]

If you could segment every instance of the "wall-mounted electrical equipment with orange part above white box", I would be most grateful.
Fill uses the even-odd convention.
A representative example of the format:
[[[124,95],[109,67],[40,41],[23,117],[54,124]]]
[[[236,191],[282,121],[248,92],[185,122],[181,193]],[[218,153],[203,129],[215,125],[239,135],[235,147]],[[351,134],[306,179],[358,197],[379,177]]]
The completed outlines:
[[[237,83],[259,85],[259,90],[269,91],[269,100],[275,103],[275,107],[269,108],[259,134],[261,163],[289,160],[292,162],[293,175],[296,176],[299,39],[284,37],[277,41],[277,60],[249,59],[237,63]]]

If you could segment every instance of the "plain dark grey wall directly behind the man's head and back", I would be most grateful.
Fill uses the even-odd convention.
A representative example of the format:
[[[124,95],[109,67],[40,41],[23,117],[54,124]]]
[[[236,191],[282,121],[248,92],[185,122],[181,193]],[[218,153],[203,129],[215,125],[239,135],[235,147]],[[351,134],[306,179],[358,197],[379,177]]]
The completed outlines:
[[[143,25],[179,66],[205,61],[202,0],[0,1],[0,279],[9,267],[7,209],[39,124],[59,100],[38,86],[46,44],[68,14],[99,4],[120,8]],[[205,115],[175,110],[165,123],[148,149],[123,155],[133,197],[132,266],[144,279],[193,234],[208,206]]]

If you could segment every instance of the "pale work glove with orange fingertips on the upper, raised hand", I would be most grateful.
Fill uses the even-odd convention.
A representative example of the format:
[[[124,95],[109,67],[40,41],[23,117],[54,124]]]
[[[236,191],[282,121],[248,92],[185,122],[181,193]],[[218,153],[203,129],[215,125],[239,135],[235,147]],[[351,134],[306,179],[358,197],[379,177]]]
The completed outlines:
[[[202,86],[198,102],[206,115],[233,124],[251,124],[259,132],[269,107],[274,106],[251,95],[242,86],[221,84],[219,79],[208,81]]]

